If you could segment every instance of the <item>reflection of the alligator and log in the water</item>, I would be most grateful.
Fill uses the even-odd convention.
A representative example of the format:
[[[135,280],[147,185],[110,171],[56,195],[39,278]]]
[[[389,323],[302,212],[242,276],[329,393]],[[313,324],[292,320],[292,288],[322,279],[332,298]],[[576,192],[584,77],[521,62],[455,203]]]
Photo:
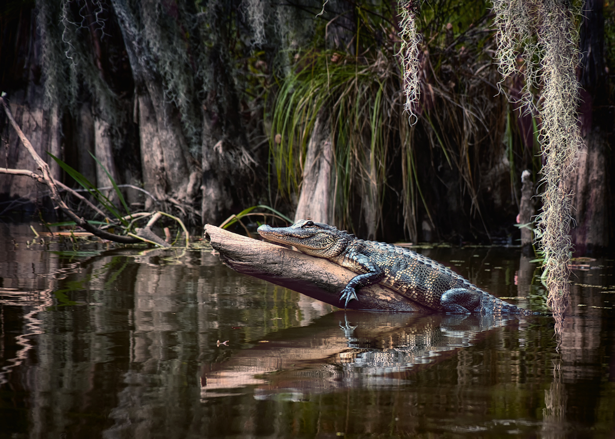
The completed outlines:
[[[254,384],[256,398],[287,393],[293,400],[308,391],[395,386],[472,346],[487,331],[518,322],[485,315],[332,312],[307,327],[270,334],[226,362],[205,366],[201,397]]]

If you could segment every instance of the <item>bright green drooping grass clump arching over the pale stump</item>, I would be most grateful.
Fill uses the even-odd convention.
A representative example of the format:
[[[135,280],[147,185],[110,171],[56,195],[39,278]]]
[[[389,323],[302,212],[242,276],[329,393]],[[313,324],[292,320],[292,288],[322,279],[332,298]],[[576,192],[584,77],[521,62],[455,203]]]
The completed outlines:
[[[285,78],[272,114],[271,148],[279,187],[298,192],[317,114],[327,107],[335,150],[335,218],[352,226],[353,191],[364,211],[374,212],[375,234],[387,182],[387,148],[397,130],[400,93],[395,65],[379,50],[359,61],[333,50],[304,53],[300,68]],[[278,135],[276,141],[276,135]]]

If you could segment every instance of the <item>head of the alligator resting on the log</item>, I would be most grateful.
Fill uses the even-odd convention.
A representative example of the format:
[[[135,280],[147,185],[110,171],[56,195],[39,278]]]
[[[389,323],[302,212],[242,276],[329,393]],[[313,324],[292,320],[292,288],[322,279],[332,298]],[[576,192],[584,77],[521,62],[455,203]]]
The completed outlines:
[[[290,227],[263,224],[258,227],[258,233],[270,241],[293,245],[307,255],[326,259],[338,256],[355,239],[336,227],[312,220],[300,220]]]

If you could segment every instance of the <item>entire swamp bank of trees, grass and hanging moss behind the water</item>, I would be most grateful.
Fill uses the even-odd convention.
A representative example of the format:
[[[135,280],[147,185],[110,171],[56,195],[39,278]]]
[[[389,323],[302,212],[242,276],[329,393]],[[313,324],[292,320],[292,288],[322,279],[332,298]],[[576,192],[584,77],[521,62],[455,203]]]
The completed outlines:
[[[5,6],[0,193],[42,183],[86,231],[159,246],[160,218],[187,246],[242,216],[459,243],[523,217],[563,317],[573,251],[613,243],[615,25],[600,1],[534,3]]]

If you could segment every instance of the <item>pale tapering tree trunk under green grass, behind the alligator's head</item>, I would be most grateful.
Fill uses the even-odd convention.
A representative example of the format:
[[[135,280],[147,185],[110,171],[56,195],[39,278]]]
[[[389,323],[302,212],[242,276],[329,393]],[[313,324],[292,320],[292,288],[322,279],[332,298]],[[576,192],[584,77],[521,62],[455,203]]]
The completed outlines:
[[[311,218],[318,223],[334,222],[333,200],[331,200],[333,144],[330,133],[327,113],[324,110],[320,111],[308,143],[295,221]]]

